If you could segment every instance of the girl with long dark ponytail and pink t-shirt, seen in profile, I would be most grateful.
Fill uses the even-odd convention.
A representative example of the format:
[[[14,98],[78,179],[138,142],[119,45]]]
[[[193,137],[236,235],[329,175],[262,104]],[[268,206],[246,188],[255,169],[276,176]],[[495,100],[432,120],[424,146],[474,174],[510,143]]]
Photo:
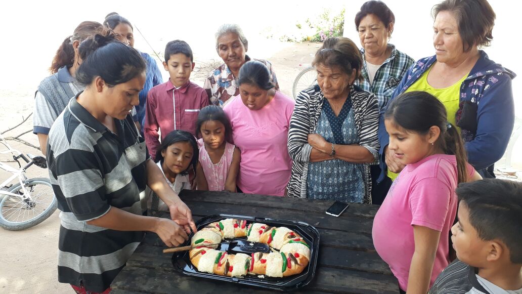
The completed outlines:
[[[450,262],[457,184],[480,175],[466,162],[444,105],[430,93],[400,95],[384,119],[388,148],[406,167],[375,215],[373,243],[402,291],[426,293]]]

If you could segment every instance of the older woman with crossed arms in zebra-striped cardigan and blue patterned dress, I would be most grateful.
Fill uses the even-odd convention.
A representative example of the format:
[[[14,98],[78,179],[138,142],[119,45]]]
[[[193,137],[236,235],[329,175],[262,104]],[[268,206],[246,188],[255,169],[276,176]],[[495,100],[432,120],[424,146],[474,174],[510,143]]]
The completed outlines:
[[[353,86],[362,62],[348,38],[326,39],[315,54],[318,85],[299,93],[290,120],[289,196],[372,202],[379,108],[375,95]]]

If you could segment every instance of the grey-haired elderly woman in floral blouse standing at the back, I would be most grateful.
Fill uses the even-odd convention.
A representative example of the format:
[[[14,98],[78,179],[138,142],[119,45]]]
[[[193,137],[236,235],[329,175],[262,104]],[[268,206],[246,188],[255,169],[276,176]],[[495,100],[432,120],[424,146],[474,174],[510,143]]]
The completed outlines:
[[[276,90],[279,90],[276,74],[272,65],[266,60],[251,58],[246,55],[248,40],[243,30],[238,26],[226,23],[216,32],[216,51],[224,64],[212,70],[205,80],[203,88],[208,93],[210,103],[223,107],[227,101],[239,95],[238,76],[239,69],[245,62],[256,60],[268,67],[270,81]]]

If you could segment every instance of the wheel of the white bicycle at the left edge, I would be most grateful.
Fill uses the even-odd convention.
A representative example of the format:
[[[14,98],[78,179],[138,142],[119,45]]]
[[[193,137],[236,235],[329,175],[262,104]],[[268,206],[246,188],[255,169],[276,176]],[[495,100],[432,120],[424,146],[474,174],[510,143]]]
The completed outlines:
[[[56,210],[56,197],[49,179],[29,179],[25,187],[31,199],[5,196],[0,201],[0,227],[11,231],[24,230],[40,224]],[[20,183],[7,192],[23,195]]]

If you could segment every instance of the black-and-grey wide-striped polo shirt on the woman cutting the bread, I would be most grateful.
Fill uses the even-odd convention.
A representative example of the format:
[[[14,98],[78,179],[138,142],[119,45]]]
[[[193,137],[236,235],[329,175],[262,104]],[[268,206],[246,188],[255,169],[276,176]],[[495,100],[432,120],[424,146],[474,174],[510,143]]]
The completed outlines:
[[[76,98],[51,127],[47,147],[49,175],[62,211],[58,281],[102,292],[125,266],[143,232],[109,230],[87,221],[111,207],[144,213],[149,156],[131,115],[114,120],[116,135]]]

